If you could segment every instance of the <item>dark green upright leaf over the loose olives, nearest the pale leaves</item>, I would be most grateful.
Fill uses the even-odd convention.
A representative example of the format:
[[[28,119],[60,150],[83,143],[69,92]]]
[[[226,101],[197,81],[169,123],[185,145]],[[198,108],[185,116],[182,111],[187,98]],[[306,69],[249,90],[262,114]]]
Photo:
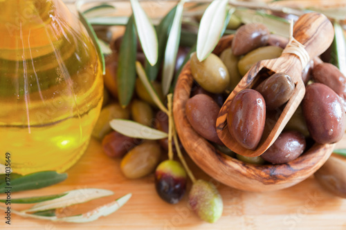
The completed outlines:
[[[134,94],[136,83],[137,35],[134,17],[127,22],[118,59],[118,97],[122,106],[127,106]]]

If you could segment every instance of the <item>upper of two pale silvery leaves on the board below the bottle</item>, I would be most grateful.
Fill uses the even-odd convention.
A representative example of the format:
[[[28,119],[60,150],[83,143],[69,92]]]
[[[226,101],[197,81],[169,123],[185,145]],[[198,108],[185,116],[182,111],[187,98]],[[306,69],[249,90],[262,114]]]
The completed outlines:
[[[24,210],[24,212],[46,211],[51,209],[69,207],[73,204],[81,204],[90,200],[95,200],[113,194],[114,193],[112,191],[105,189],[72,190],[66,192],[65,195],[62,195],[60,198],[39,202],[39,204],[34,205],[30,209]]]

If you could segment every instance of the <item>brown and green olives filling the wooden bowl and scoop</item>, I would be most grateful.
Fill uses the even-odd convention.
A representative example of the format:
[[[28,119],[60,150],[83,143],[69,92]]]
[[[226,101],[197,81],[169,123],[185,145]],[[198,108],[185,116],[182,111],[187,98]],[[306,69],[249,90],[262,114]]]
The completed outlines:
[[[252,164],[283,164],[299,157],[313,143],[338,142],[345,131],[346,78],[332,64],[310,61],[302,71],[306,85],[304,99],[284,131],[260,157],[232,153],[216,131],[220,108],[242,76],[264,59],[280,57],[286,42],[270,35],[266,26],[241,26],[232,44],[221,55],[211,54],[199,61],[190,58],[194,86],[185,104],[185,113],[194,131],[227,155]],[[228,108],[228,131],[244,148],[255,150],[262,138],[267,115],[282,113],[295,83],[285,73],[262,73],[253,88],[235,95]]]

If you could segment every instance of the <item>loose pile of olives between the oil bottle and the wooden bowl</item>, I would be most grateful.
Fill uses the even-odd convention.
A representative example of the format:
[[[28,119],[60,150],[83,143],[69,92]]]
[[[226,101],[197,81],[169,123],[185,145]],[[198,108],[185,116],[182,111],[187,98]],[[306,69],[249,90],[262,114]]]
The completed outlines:
[[[181,200],[186,191],[187,175],[179,162],[165,160],[168,151],[167,138],[157,141],[140,140],[113,131],[109,125],[112,119],[132,119],[139,124],[168,133],[166,113],[156,107],[139,78],[136,79],[136,92],[129,106],[122,108],[118,103],[116,75],[121,41],[122,37],[119,37],[111,44],[113,53],[106,59],[104,104],[93,129],[93,137],[102,142],[102,150],[106,155],[121,158],[120,170],[126,178],[138,179],[155,173],[155,187],[158,195],[166,202],[175,204]],[[144,66],[145,55],[140,43],[137,44],[137,60]],[[188,51],[186,47],[179,47],[175,70],[179,70]],[[160,78],[158,76],[158,80],[152,82],[152,86],[162,102],[165,102]],[[181,146],[180,142],[179,146]],[[173,151],[176,151],[174,141]]]

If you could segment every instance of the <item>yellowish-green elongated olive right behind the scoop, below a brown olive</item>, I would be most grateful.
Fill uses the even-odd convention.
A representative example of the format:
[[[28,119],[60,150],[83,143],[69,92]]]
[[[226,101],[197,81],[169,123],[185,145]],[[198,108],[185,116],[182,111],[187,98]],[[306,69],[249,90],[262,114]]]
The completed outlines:
[[[248,52],[238,62],[240,75],[244,76],[258,61],[280,57],[282,48],[277,46],[264,46]]]

